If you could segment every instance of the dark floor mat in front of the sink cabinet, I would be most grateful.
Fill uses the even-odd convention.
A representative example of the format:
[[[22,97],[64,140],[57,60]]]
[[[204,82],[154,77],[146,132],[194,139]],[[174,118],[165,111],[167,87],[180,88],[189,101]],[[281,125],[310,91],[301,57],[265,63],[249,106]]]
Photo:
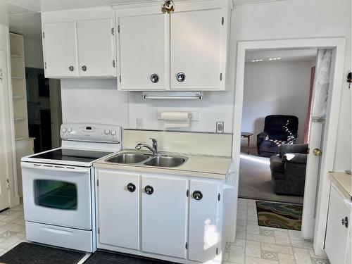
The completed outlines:
[[[143,258],[125,253],[112,253],[108,251],[95,251],[84,264],[171,264],[173,262]]]

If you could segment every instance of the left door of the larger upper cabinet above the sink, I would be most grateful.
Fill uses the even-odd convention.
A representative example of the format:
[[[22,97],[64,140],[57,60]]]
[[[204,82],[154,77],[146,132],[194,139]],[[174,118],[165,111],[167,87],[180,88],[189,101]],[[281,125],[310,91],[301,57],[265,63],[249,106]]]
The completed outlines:
[[[168,47],[165,46],[168,16],[161,13],[120,17],[118,25],[120,89],[168,87]]]

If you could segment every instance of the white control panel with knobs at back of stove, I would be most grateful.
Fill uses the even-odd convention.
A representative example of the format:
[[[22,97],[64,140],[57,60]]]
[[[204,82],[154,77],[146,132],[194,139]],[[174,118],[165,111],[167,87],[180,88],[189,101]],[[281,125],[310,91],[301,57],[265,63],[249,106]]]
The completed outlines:
[[[61,125],[60,136],[63,140],[120,143],[121,131],[119,125],[66,123]]]

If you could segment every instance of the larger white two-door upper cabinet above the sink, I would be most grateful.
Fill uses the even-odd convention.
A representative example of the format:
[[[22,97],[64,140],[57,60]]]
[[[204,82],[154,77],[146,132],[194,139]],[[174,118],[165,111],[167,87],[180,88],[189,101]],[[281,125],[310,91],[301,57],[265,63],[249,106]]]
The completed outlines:
[[[225,90],[231,1],[116,9],[121,90]]]

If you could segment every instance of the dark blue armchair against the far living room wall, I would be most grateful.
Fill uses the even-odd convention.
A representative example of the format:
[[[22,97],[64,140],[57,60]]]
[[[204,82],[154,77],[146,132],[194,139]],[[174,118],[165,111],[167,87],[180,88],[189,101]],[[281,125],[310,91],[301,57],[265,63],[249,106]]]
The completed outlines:
[[[279,153],[282,144],[296,144],[298,118],[294,115],[268,115],[264,132],[257,135],[258,155],[270,157]]]

